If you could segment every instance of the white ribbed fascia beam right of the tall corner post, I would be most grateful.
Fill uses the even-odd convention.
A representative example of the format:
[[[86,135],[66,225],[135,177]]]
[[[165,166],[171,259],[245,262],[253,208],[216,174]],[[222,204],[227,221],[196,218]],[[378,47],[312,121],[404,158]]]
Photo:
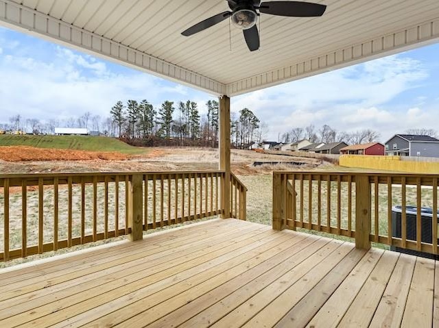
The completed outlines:
[[[303,79],[304,77],[326,73],[386,55],[429,45],[438,42],[438,38],[439,18],[435,18],[432,21],[422,22],[403,30],[378,36],[373,40],[364,40],[364,42],[356,43],[351,47],[312,57],[304,62],[294,62],[289,66],[240,79],[226,86],[226,94],[230,97],[237,96]]]

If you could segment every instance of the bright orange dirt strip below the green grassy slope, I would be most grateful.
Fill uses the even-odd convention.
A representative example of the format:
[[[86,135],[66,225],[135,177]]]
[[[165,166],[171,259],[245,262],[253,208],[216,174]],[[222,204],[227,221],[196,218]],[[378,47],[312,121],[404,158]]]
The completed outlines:
[[[71,149],[42,149],[27,146],[0,147],[0,160],[5,162],[127,160],[128,155],[107,151],[78,151]]]

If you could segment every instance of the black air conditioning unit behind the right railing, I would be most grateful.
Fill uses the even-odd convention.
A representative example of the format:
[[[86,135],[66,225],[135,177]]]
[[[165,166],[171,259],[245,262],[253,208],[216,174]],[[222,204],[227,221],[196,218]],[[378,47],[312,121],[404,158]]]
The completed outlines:
[[[402,238],[402,224],[401,224],[401,216],[403,210],[401,206],[392,207],[392,237]],[[418,209],[416,206],[406,206],[405,207],[405,239],[412,240],[416,242],[416,217],[418,215]],[[439,211],[438,211],[439,216]],[[420,209],[420,240],[427,244],[431,244],[433,240],[432,236],[432,219],[433,219],[433,210],[429,207],[421,207]],[[436,240],[438,236],[436,236]],[[402,249],[401,247],[392,246],[390,249],[392,251],[399,251],[401,253],[412,254],[416,256],[428,257],[428,258],[436,258],[436,255],[414,251],[412,249]]]

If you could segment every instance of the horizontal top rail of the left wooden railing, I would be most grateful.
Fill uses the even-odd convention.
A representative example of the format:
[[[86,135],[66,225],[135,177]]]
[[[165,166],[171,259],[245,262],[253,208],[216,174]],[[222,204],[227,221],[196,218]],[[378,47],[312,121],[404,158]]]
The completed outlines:
[[[36,177],[105,177],[113,175],[169,175],[169,174],[204,174],[204,173],[217,173],[222,174],[224,171],[219,170],[206,170],[206,171],[122,171],[122,172],[79,172],[79,173],[11,173],[11,174],[1,174],[0,179],[11,179],[11,178],[21,178],[21,179],[35,179]]]

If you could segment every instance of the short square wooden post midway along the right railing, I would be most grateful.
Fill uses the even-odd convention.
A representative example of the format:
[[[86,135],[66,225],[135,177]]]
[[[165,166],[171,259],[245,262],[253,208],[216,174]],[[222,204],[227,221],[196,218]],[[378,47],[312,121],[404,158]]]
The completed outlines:
[[[367,175],[355,177],[355,247],[370,249],[370,220],[372,203]]]

